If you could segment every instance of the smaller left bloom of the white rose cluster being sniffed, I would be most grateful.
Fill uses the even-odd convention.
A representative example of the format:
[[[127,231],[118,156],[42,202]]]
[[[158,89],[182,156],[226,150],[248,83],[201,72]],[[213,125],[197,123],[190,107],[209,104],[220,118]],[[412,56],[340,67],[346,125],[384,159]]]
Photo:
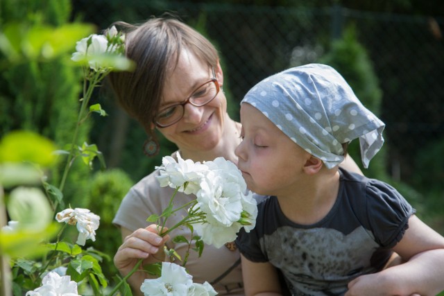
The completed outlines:
[[[178,188],[185,194],[196,194],[200,189],[200,180],[207,173],[208,167],[200,162],[194,163],[191,159],[184,160],[180,154],[176,154],[178,161],[171,156],[162,158],[162,166],[159,168],[160,175],[157,181],[161,187],[170,186]]]

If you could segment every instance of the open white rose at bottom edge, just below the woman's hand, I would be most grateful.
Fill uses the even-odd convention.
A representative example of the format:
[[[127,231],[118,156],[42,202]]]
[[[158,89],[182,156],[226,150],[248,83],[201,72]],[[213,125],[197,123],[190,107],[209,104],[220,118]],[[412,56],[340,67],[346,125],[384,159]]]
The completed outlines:
[[[192,278],[182,266],[162,262],[162,275],[157,279],[145,279],[140,290],[145,296],[188,295],[193,284]]]

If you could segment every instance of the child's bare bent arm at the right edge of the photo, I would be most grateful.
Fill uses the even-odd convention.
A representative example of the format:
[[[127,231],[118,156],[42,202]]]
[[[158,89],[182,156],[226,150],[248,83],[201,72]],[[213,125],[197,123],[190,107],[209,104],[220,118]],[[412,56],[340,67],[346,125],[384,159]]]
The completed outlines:
[[[436,295],[444,290],[443,236],[411,216],[409,228],[393,250],[407,262],[358,277],[345,295]]]

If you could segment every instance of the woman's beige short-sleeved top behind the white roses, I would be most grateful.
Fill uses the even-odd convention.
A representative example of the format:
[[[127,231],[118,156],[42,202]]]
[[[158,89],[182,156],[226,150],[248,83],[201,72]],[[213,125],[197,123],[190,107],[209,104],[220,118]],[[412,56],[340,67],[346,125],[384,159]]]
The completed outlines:
[[[161,214],[162,210],[167,207],[174,189],[169,187],[160,187],[155,175],[158,175],[158,170],[150,175],[144,177],[123,198],[119,210],[114,217],[113,223],[119,227],[125,227],[131,231],[139,228],[144,228],[152,223],[147,222],[146,218],[152,214]],[[186,195],[178,193],[174,198],[174,209],[180,207],[196,198],[195,195]],[[171,227],[178,223],[183,216],[186,215],[186,210],[178,211],[174,216],[167,220],[167,227]],[[187,238],[191,236],[191,231],[188,227],[176,229],[170,233],[171,238],[177,235],[183,235]],[[194,234],[196,235],[196,234]],[[168,247],[173,248],[184,256],[187,244],[174,244],[171,241],[167,243]],[[191,247],[194,247],[192,245]],[[216,249],[212,245],[205,245],[203,254],[198,258],[197,252],[190,250],[189,259],[185,266],[189,274],[193,276],[193,281],[196,283],[203,283],[208,281],[212,283],[214,279],[228,270],[239,259],[239,252],[237,250],[229,250],[228,247],[221,247]],[[180,264],[180,261],[178,262]],[[244,295],[242,286],[241,265],[237,265],[227,276],[225,276],[218,284],[214,284],[214,289],[219,293],[218,295]]]

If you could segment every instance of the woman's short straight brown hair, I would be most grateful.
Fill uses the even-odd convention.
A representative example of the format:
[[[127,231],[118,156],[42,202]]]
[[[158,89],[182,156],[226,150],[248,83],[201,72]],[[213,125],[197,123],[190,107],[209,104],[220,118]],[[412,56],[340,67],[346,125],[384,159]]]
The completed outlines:
[[[155,17],[139,26],[116,22],[126,32],[126,57],[136,63],[132,72],[112,72],[108,81],[117,101],[148,134],[162,99],[169,69],[178,63],[180,51],[187,49],[205,64],[216,67],[219,55],[203,35],[173,17]]]

